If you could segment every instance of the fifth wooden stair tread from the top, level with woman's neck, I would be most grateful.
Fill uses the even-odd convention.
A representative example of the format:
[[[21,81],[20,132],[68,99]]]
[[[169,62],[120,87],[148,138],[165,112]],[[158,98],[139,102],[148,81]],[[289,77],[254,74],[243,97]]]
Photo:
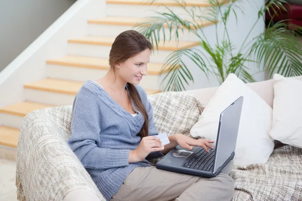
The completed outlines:
[[[84,82],[79,81],[46,78],[36,82],[24,84],[24,88],[76,95],[83,84]],[[144,90],[147,94],[162,92],[162,90]]]

